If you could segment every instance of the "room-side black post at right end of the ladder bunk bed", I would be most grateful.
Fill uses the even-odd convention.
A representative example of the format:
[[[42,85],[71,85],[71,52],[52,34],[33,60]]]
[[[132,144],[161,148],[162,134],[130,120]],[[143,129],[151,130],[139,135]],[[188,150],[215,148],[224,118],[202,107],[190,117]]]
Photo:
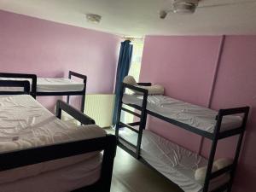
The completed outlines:
[[[204,183],[203,192],[207,192],[208,188],[209,188],[209,183],[210,183],[211,175],[212,175],[212,165],[213,165],[216,148],[217,148],[217,144],[218,144],[218,133],[220,130],[222,118],[223,118],[222,109],[220,109],[218,111],[218,115],[216,116],[217,123],[215,125],[215,130],[214,130],[214,134],[213,134],[214,137],[212,140],[212,148],[211,148],[211,152],[209,155],[209,160],[208,160],[208,165],[207,165],[207,175],[206,175],[206,179],[205,179],[205,183]]]

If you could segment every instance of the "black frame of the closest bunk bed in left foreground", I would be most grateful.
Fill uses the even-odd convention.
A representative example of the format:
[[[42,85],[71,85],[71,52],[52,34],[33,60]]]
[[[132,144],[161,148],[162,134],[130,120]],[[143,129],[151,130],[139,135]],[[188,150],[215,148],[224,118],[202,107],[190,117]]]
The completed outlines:
[[[0,87],[23,87],[24,91],[1,91],[0,95],[20,95],[30,93],[29,81],[0,80]],[[66,102],[56,103],[56,117],[61,119],[61,111],[65,111],[83,125],[95,125],[95,120],[71,107]],[[21,166],[29,166],[48,160],[57,160],[73,155],[104,151],[101,176],[96,183],[75,189],[73,192],[110,192],[113,174],[113,160],[116,154],[117,139],[113,135],[80,140],[68,143],[58,143],[50,146],[27,148],[0,154],[0,172]]]

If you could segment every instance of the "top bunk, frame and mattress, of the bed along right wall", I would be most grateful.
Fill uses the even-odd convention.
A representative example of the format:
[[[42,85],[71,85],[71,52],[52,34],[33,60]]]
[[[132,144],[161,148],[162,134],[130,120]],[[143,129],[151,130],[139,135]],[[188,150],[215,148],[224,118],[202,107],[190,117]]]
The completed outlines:
[[[138,85],[144,86],[123,83],[120,94],[122,99],[119,102],[140,111],[145,110],[156,118],[211,140],[230,137],[245,130],[249,107],[214,111],[169,96],[149,95],[145,85],[148,86],[150,83]],[[132,90],[133,93],[126,94],[125,89]],[[129,110],[123,107],[121,109]],[[134,114],[141,117],[138,113]]]

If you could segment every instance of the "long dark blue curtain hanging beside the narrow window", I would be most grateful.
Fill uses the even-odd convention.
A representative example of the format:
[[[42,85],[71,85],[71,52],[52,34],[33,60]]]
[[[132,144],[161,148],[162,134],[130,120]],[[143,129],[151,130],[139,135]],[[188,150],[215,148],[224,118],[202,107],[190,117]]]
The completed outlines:
[[[115,79],[115,102],[114,102],[114,109],[113,109],[113,125],[116,124],[117,121],[117,110],[118,110],[118,103],[119,103],[119,92],[121,88],[121,84],[128,75],[130,64],[131,64],[131,55],[132,55],[132,44],[131,41],[126,40],[121,43],[121,48],[119,52],[119,63],[117,67],[116,79]]]

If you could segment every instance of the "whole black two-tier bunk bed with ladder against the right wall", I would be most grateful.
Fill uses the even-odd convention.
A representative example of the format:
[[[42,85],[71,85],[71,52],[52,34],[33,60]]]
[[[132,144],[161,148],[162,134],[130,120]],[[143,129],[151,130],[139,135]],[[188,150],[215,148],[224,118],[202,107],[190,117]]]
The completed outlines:
[[[126,94],[126,89],[132,90],[135,94]],[[135,108],[136,112],[131,108]],[[122,111],[133,114],[139,120],[126,124],[121,122]],[[148,95],[147,89],[123,83],[119,94],[115,135],[118,138],[119,147],[160,172],[183,191],[230,191],[248,113],[249,107],[219,109],[217,112],[167,96],[151,96]],[[209,157],[206,159],[155,135],[152,131],[145,130],[148,114],[210,139],[212,147]],[[123,128],[128,128],[130,131],[120,131]],[[232,163],[213,172],[218,141],[233,136],[239,136],[239,139]],[[199,182],[195,179],[195,170],[203,166],[206,166],[207,171],[203,182]]]

